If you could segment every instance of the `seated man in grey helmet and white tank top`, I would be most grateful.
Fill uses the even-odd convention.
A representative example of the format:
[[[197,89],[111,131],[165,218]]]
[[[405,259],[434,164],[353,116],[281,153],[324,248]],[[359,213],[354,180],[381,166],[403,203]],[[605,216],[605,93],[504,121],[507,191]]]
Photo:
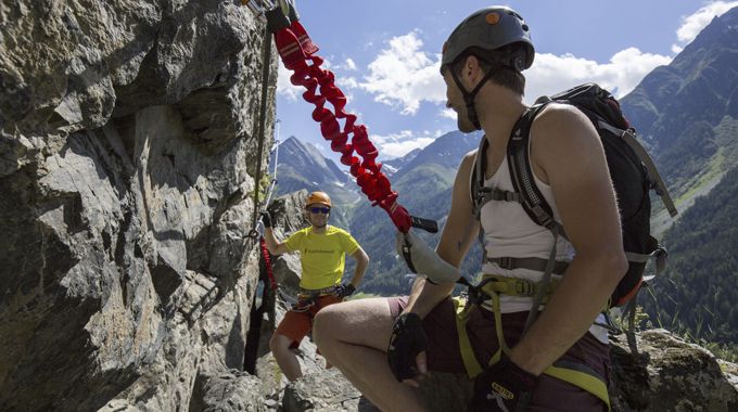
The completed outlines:
[[[486,186],[513,190],[506,149],[529,113],[521,72],[533,57],[527,25],[505,7],[472,13],[443,46],[447,106],[457,113],[459,130],[485,132],[488,144],[479,156],[486,158]],[[607,333],[594,322],[627,260],[605,152],[589,120],[569,105],[546,105],[530,137],[535,185],[569,240],[534,223],[513,202],[489,202],[476,220],[470,176],[478,153],[471,152],[459,166],[436,249],[412,232],[398,233],[398,249],[421,274],[410,296],[354,300],[316,318],[314,337],[322,353],[382,410],[428,409],[413,388],[428,371],[473,376],[470,410],[607,410]],[[450,294],[480,230],[487,258],[483,276],[538,285],[538,262],[555,255],[557,265],[564,263],[530,327],[537,300],[514,287],[474,306],[459,322]],[[484,368],[474,371],[475,362]]]

